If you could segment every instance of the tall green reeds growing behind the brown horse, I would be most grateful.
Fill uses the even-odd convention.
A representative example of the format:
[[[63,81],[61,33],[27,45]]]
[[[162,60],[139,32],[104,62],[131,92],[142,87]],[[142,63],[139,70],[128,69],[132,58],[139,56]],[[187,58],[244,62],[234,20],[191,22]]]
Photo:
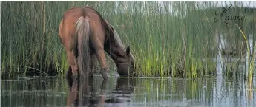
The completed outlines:
[[[59,41],[59,22],[65,10],[85,5],[98,10],[125,46],[131,46],[137,72],[145,77],[216,74],[214,31],[232,32],[234,28],[213,22],[217,4],[211,1],[2,1],[1,75],[30,72],[31,68],[64,75],[68,61]],[[249,16],[245,24],[239,24],[242,30],[248,30],[247,19],[253,19]],[[238,32],[234,35],[226,38],[231,38],[231,45],[237,43],[234,47],[241,58],[243,38]]]

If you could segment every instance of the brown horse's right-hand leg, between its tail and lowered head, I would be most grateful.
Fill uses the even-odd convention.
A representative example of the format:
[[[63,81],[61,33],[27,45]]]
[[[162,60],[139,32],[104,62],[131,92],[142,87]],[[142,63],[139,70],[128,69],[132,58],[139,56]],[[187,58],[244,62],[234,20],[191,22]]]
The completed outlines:
[[[109,68],[106,63],[106,57],[104,53],[104,45],[97,37],[91,38],[91,44],[93,49],[95,50],[95,55],[99,60],[99,63],[101,65],[101,74],[104,80],[108,80],[108,72]]]

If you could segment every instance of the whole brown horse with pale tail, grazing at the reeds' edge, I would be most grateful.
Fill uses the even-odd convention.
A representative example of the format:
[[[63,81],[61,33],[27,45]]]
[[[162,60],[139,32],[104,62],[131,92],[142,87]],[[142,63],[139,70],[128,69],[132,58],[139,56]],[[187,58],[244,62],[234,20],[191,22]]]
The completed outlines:
[[[101,73],[107,79],[109,67],[105,53],[111,56],[121,76],[134,72],[134,57],[130,46],[125,49],[114,27],[92,7],[73,7],[64,13],[59,24],[59,38],[68,55],[67,76],[92,76],[98,58]]]

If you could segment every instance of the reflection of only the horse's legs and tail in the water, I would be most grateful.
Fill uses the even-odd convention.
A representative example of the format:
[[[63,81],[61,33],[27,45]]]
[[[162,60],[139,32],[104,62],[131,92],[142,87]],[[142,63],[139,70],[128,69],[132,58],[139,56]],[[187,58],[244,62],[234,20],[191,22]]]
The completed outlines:
[[[93,77],[88,77],[79,82],[79,80],[68,80],[68,100],[67,106],[99,106],[104,104],[104,95],[96,96],[93,89]],[[105,89],[106,80],[102,81],[102,91]],[[100,94],[104,94],[101,92]]]

